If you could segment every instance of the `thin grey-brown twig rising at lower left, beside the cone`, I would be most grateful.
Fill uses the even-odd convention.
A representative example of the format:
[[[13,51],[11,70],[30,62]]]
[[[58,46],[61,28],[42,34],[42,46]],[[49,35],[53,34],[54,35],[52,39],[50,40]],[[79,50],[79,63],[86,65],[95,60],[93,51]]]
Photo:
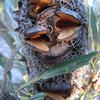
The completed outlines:
[[[17,49],[14,49],[12,51],[11,56],[9,57],[8,61],[5,64],[5,70],[4,70],[4,75],[3,75],[3,83],[2,83],[2,93],[5,93],[7,91],[7,74],[13,67],[12,60],[16,56],[20,47],[21,47],[21,45]]]

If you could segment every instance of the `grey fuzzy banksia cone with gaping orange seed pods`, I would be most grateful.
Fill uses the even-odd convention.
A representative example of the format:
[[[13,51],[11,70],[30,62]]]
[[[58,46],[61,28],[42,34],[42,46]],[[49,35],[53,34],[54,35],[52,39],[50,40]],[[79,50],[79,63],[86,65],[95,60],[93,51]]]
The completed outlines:
[[[87,14],[79,0],[20,0],[14,11],[16,31],[23,44],[30,78],[52,66],[83,55],[86,50]],[[37,91],[71,93],[71,74],[36,83]]]

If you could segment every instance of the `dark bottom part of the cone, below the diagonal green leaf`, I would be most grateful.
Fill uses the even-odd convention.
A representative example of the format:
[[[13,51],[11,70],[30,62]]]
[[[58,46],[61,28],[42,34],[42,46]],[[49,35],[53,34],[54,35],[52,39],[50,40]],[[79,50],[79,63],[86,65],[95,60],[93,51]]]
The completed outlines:
[[[50,78],[47,80],[41,80],[36,83],[37,90],[40,92],[57,93],[63,96],[69,96],[72,90],[71,82],[67,81],[70,74],[65,74],[55,77],[56,80]],[[59,79],[59,81],[57,81]]]

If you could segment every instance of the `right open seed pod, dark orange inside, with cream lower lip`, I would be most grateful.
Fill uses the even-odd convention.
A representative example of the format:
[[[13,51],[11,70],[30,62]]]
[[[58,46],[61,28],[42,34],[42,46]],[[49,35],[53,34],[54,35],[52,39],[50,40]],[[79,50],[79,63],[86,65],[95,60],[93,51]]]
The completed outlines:
[[[57,39],[59,41],[69,41],[75,38],[81,26],[79,14],[61,7],[60,10],[56,12],[56,16],[58,16],[58,20],[56,20],[56,29],[57,31],[60,30]]]

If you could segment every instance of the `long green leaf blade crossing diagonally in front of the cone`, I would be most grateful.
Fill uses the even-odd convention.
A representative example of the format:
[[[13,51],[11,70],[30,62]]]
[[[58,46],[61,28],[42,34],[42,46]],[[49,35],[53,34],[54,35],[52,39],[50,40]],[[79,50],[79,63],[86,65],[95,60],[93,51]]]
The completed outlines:
[[[92,52],[90,54],[80,56],[77,59],[70,60],[54,68],[51,68],[46,71],[42,76],[40,76],[40,79],[47,79],[64,73],[70,73],[77,68],[84,67],[84,65],[87,65],[91,58],[94,57],[96,54],[96,52]]]

